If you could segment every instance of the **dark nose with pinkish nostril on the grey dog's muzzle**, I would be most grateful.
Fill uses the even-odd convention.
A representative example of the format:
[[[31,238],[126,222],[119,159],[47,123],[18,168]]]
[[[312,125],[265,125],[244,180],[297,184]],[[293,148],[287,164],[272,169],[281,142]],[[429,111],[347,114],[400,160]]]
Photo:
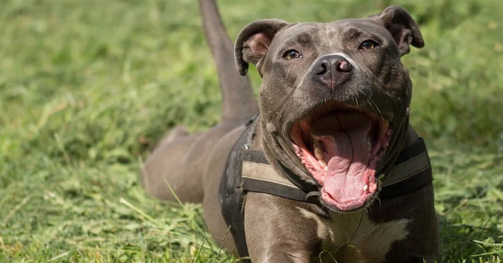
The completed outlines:
[[[353,66],[343,56],[325,55],[316,61],[312,69],[312,77],[316,82],[328,85],[330,89],[336,87],[349,78]]]

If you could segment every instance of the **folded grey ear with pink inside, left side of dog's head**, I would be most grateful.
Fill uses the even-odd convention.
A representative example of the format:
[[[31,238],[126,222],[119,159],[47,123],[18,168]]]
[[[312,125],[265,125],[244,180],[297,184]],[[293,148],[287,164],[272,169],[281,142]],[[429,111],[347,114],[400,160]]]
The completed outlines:
[[[269,45],[276,33],[286,25],[288,23],[280,19],[264,19],[252,22],[241,30],[234,45],[236,67],[241,75],[246,75],[248,63],[253,63],[262,76],[262,63]]]

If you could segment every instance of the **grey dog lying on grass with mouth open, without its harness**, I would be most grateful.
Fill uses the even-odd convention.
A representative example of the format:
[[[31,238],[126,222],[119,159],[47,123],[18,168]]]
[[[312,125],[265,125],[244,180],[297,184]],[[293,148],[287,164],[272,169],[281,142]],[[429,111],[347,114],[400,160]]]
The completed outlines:
[[[328,24],[262,20],[243,29],[234,49],[214,1],[199,3],[219,73],[223,118],[205,133],[172,130],[145,163],[142,181],[147,192],[174,200],[167,181],[182,201],[202,202],[208,228],[220,242],[228,229],[219,203],[222,172],[243,124],[260,108],[253,147],[271,163],[281,163],[299,179],[319,186],[325,208],[248,193],[244,228],[251,261],[310,262],[323,250],[330,252],[322,253],[325,262],[327,256],[337,262],[438,259],[431,183],[373,202],[381,187],[375,173],[418,139],[408,124],[411,83],[399,60],[409,44],[423,46],[410,16],[392,7],[368,19]],[[230,66],[233,51],[241,74],[250,62],[263,76],[260,107],[247,78]],[[373,134],[368,154],[358,145],[362,134],[367,143]],[[324,155],[316,155],[318,165],[311,159],[320,144]],[[345,150],[341,153],[338,147]],[[352,157],[342,158],[348,151]],[[366,157],[359,157],[362,152]],[[362,187],[363,191],[353,191]],[[232,236],[223,242],[229,251],[235,250]]]

